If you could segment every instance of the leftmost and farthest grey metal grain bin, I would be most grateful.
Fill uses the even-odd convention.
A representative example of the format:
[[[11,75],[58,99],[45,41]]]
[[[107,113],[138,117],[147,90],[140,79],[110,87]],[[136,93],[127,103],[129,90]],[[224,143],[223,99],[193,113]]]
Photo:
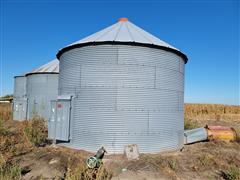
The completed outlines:
[[[25,120],[27,118],[27,99],[26,99],[26,81],[25,76],[14,77],[13,92],[13,119]]]

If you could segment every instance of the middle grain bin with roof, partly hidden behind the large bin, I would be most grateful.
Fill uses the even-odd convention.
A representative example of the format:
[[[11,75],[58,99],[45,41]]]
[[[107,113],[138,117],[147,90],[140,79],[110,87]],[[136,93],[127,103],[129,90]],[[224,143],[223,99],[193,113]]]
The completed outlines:
[[[57,99],[58,60],[55,59],[26,74],[27,118],[49,118],[50,102]]]

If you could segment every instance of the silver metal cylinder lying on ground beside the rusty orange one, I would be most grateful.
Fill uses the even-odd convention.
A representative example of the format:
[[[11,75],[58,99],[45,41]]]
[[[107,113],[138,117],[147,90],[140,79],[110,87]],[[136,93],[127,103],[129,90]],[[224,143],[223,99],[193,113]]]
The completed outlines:
[[[205,141],[208,138],[205,128],[196,128],[184,131],[184,144],[191,144],[199,141]]]

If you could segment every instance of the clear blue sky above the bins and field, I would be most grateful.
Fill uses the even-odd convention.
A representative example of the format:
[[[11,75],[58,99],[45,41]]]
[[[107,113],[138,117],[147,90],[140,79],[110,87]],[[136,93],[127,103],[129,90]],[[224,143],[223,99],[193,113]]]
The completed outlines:
[[[185,102],[239,104],[239,1],[1,0],[0,95],[13,76],[128,17],[187,54]]]

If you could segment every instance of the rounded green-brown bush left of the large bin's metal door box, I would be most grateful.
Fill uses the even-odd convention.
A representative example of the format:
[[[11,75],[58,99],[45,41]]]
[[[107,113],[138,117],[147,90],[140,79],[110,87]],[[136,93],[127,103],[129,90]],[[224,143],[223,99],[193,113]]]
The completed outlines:
[[[27,121],[24,133],[33,145],[40,146],[44,144],[47,139],[47,128],[44,119],[34,118]]]

